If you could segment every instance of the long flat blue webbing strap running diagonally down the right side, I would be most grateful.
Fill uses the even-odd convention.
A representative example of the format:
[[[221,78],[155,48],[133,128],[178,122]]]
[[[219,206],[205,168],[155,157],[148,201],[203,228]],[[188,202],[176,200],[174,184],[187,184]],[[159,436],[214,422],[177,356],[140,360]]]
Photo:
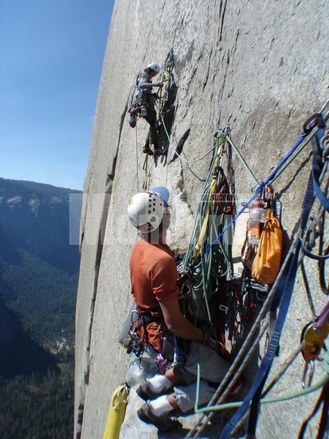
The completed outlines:
[[[321,128],[323,129],[320,129],[319,127],[317,131],[317,150],[319,150],[319,142],[321,141],[321,137],[324,135],[325,123],[323,117],[318,118],[318,123],[319,125],[323,125],[321,126]],[[318,169],[316,169],[315,175],[317,176],[318,179],[319,173],[321,171],[321,165],[319,165],[319,152],[316,154],[315,151],[313,156],[313,167],[315,167],[316,165]],[[302,230],[306,228],[308,217],[310,215],[310,210],[313,206],[313,201],[314,201],[314,186],[313,186],[313,169],[312,169],[310,173],[310,178],[308,179],[308,185],[302,205],[302,220],[301,220]],[[280,278],[278,287],[276,289],[276,294],[274,294],[273,300],[271,302],[271,307],[270,307],[271,311],[276,311],[276,309],[278,309],[279,304],[280,304],[280,310],[279,310],[278,320],[276,321],[275,329],[273,331],[273,335],[271,336],[271,340],[269,342],[269,347],[267,348],[267,353],[265,354],[265,357],[263,358],[263,361],[260,364],[260,368],[258,369],[256,378],[254,380],[254,383],[252,384],[252,388],[247,393],[247,396],[245,396],[245,399],[243,400],[243,404],[241,405],[239,410],[236,411],[234,416],[232,416],[230,421],[224,427],[220,439],[230,438],[230,433],[232,431],[232,428],[236,425],[236,423],[239,422],[239,420],[241,420],[245,412],[247,412],[250,403],[251,403],[251,407],[250,407],[247,433],[249,437],[252,437],[255,434],[260,395],[265,385],[267,375],[269,374],[269,370],[271,369],[273,358],[276,355],[276,352],[278,351],[280,336],[282,333],[284,321],[286,320],[287,317],[291,296],[293,294],[293,287],[295,285],[295,277],[297,274],[298,259],[299,259],[300,248],[301,248],[300,239],[297,239],[297,241],[295,241],[294,244],[295,244],[295,250],[289,256],[289,261]]]

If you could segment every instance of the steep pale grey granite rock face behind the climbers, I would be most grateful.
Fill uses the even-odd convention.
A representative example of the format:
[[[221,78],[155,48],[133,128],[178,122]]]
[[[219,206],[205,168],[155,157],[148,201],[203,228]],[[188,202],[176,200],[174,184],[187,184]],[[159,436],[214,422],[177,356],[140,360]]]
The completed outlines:
[[[218,126],[230,123],[234,143],[256,178],[263,179],[295,142],[302,123],[328,98],[327,6],[326,1],[307,0],[117,1],[84,185],[76,311],[75,437],[102,437],[112,392],[125,381],[128,358],[117,337],[132,305],[129,259],[136,241],[126,206],[142,187],[141,150],[147,134],[143,120],[138,121],[137,137],[136,128],[132,130],[127,123],[137,73],[149,62],[164,62],[173,47],[178,84],[173,147],[190,130],[183,151],[193,161],[210,150]],[[300,215],[310,150],[306,147],[276,180],[275,190],[284,206],[282,224],[289,236]],[[170,150],[168,163],[163,156],[149,158],[147,183],[148,187],[167,185],[171,191],[169,245],[183,252],[210,156],[189,164],[171,161],[172,156]],[[254,183],[236,156],[233,166],[236,193],[239,198],[248,197]],[[308,263],[306,268],[319,298],[315,265]],[[299,277],[273,373],[297,346],[310,317]],[[299,358],[278,390],[299,389],[301,374]],[[295,438],[316,396],[263,407],[257,437]],[[158,437],[156,429],[137,420],[140,404],[132,392],[121,438]],[[184,418],[184,427],[195,420],[195,416]],[[207,437],[218,437],[219,427],[220,423]],[[315,436],[315,425],[308,435]]]

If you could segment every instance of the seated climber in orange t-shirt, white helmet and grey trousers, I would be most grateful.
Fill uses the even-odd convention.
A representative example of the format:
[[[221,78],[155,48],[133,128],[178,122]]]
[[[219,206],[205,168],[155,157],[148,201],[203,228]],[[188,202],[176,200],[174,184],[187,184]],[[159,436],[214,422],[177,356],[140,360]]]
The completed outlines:
[[[175,408],[188,412],[194,406],[198,357],[202,359],[199,405],[210,400],[215,391],[213,383],[219,383],[230,366],[219,355],[225,347],[212,340],[208,331],[193,326],[180,311],[176,265],[166,244],[171,219],[168,200],[168,189],[156,187],[134,195],[128,206],[130,222],[140,233],[130,259],[130,276],[143,323],[143,342],[160,352],[163,340],[160,327],[164,327],[166,338],[173,334],[191,340],[184,365],[175,364],[164,375],[155,375],[136,390],[141,398],[153,400],[138,410],[139,418],[162,431],[177,425],[177,421],[169,418]],[[172,394],[162,395],[177,385],[184,387],[175,387]]]

